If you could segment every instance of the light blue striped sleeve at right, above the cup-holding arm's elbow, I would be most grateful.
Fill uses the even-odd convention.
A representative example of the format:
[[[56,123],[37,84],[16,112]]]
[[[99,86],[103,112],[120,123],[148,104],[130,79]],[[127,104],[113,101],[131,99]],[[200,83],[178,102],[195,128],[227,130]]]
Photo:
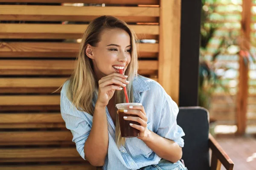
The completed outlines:
[[[166,102],[163,104],[163,110],[161,112],[160,125],[157,129],[157,134],[166,138],[171,139],[180,147],[184,146],[184,140],[181,138],[185,136],[182,128],[177,125],[177,114],[179,108],[177,104],[172,100],[169,95],[166,95]]]

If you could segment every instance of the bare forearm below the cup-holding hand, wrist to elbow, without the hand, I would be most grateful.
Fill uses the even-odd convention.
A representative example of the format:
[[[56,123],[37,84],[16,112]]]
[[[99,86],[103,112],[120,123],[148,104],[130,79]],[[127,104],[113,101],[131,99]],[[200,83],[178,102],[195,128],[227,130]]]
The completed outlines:
[[[163,159],[177,162],[182,157],[182,148],[176,142],[163,138],[150,130],[141,140]]]

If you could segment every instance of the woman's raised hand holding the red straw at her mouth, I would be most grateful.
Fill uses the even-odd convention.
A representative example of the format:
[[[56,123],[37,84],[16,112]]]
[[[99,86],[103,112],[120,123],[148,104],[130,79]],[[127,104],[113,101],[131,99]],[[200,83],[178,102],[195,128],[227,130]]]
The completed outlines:
[[[106,107],[109,100],[113,97],[116,90],[122,90],[129,82],[126,81],[127,76],[119,73],[112,73],[99,80],[99,94],[97,105]]]

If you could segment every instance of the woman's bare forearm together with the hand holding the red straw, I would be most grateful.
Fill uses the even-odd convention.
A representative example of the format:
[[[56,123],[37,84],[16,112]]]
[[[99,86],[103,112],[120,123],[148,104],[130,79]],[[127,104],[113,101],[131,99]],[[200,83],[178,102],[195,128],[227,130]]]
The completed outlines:
[[[99,93],[93,113],[93,125],[84,144],[84,154],[90,164],[103,166],[108,153],[108,121],[106,107],[116,90],[121,91],[129,82],[127,76],[112,73],[99,80]]]

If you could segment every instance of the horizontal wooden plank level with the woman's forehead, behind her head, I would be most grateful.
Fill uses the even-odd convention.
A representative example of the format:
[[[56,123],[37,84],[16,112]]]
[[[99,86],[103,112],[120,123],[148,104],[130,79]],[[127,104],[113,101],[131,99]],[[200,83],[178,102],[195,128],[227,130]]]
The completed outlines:
[[[23,39],[77,39],[81,38],[88,25],[76,24],[0,24],[0,38]],[[159,26],[131,25],[140,39],[154,39],[159,35]]]

